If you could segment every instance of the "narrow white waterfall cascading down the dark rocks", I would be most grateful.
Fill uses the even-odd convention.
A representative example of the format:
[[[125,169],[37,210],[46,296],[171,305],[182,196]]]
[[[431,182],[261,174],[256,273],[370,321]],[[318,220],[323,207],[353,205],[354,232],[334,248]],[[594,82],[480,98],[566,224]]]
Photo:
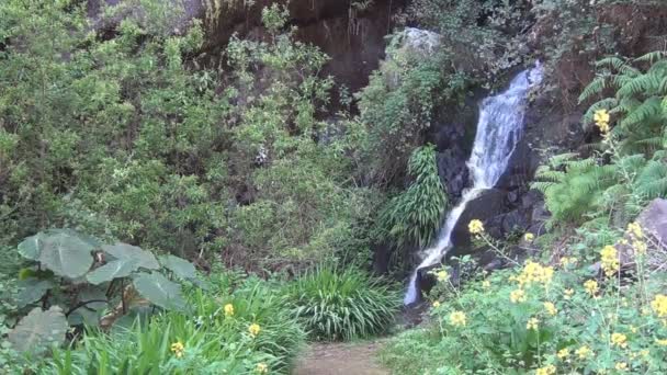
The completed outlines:
[[[451,235],[459,217],[465,211],[468,202],[482,191],[491,189],[505,172],[523,133],[523,116],[529,90],[542,81],[540,63],[534,68],[519,73],[507,91],[486,98],[479,107],[477,135],[473,145],[467,168],[473,177],[473,188],[465,191],[459,205],[449,213],[444,226],[440,229],[436,246],[423,251],[425,258],[410,277],[404,303],[409,305],[417,302],[419,286],[417,277],[419,270],[437,264],[451,248]]]

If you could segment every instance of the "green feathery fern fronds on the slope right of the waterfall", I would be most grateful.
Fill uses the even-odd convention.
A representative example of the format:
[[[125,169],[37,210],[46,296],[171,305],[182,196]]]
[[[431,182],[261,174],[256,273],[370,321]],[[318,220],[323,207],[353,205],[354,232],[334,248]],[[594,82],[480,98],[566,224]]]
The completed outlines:
[[[647,64],[643,72],[633,66]],[[595,154],[553,157],[541,167],[533,188],[544,193],[552,224],[612,218],[625,224],[645,203],[667,196],[667,59],[653,53],[634,61],[619,57],[598,63],[600,76],[580,100],[614,92],[590,106],[585,122],[596,123],[602,141]],[[593,118],[595,117],[595,118]]]

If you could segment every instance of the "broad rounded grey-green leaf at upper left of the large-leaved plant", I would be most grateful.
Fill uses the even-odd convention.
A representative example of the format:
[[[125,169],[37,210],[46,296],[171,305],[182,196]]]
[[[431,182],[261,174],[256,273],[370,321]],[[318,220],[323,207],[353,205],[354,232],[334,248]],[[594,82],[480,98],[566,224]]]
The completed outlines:
[[[39,262],[57,275],[76,279],[90,270],[92,250],[94,247],[88,241],[60,231],[44,238]]]

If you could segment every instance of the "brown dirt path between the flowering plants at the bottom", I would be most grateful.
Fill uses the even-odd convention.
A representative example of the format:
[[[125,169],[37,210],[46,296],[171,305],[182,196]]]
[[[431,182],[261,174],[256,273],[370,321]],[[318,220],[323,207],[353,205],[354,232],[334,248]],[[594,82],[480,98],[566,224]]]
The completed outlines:
[[[293,375],[388,375],[377,364],[381,342],[313,344]]]

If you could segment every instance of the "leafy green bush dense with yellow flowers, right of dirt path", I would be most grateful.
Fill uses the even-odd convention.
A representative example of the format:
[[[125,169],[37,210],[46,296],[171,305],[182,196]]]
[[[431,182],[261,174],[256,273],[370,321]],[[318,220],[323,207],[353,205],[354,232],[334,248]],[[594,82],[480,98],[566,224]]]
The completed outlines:
[[[463,288],[439,274],[448,292],[432,296],[432,322],[394,339],[383,359],[402,374],[665,372],[665,275],[647,266],[647,248],[660,245],[637,228],[625,234],[631,246],[596,251],[601,274],[579,265],[576,247],[558,265],[528,260]],[[635,261],[624,272],[621,251]]]

